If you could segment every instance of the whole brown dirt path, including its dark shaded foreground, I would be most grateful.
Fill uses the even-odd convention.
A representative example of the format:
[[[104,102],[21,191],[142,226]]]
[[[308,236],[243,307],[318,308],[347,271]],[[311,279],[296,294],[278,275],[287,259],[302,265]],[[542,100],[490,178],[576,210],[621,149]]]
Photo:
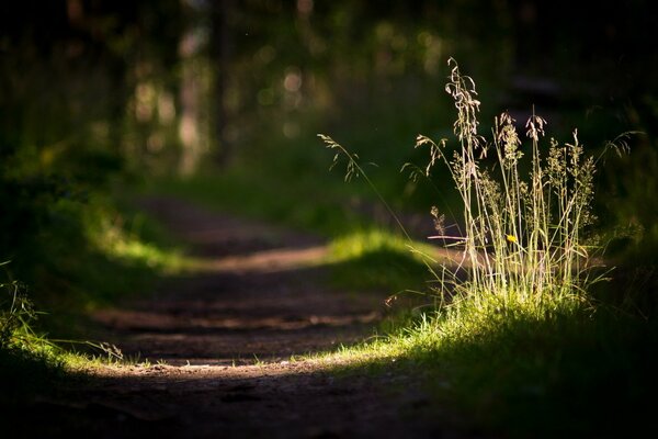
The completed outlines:
[[[144,209],[185,239],[203,273],[94,318],[150,368],[109,369],[38,402],[34,434],[93,437],[444,437],[413,376],[337,379],[292,354],[372,334],[383,296],[328,289],[313,236],[209,213],[172,199]],[[253,364],[258,359],[259,363]],[[449,435],[450,436],[450,435]]]

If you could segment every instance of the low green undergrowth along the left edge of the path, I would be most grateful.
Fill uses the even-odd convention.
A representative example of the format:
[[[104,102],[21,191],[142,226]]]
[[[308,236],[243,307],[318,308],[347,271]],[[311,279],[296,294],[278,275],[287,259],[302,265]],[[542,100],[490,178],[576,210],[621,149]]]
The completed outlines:
[[[189,266],[151,219],[126,206],[90,199],[45,209],[57,233],[44,223],[43,247],[16,247],[15,260],[0,264],[0,407],[31,402],[71,372],[134,363],[99,340],[86,314]]]

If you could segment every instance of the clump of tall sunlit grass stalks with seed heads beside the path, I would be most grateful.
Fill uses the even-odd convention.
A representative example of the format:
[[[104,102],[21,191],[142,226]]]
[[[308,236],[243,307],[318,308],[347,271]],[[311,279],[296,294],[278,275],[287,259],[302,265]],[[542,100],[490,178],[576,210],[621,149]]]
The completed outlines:
[[[525,143],[508,113],[496,117],[487,142],[477,131],[475,82],[454,59],[449,64],[446,91],[457,110],[454,133],[461,148],[450,155],[445,140],[436,144],[422,135],[416,143],[430,148],[426,172],[443,162],[463,201],[462,233],[432,237],[464,255],[465,274],[457,280],[452,271],[450,281],[441,282],[441,293],[450,289],[451,295],[474,300],[476,307],[540,314],[581,302],[580,292],[602,279],[592,275],[594,247],[583,235],[593,221],[595,160],[585,157],[577,131],[571,143],[552,138],[544,147],[546,121],[534,111],[525,123]],[[494,166],[486,166],[491,154]],[[529,169],[522,164],[525,156]]]

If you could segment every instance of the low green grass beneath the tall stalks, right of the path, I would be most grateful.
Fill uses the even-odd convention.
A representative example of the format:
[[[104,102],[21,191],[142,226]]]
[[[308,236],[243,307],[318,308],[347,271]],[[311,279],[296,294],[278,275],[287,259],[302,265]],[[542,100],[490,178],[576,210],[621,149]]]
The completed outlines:
[[[418,376],[446,425],[502,437],[651,431],[658,325],[614,311],[551,318],[428,315],[324,358],[341,374]],[[410,420],[412,421],[412,419]]]

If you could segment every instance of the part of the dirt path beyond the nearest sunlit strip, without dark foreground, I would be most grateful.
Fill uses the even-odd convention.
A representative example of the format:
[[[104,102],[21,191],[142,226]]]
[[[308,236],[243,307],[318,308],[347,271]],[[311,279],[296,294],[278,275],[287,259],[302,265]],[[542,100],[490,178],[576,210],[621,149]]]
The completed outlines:
[[[179,200],[143,207],[201,257],[198,271],[95,318],[132,358],[172,365],[276,362],[362,339],[383,297],[329,291],[320,239],[209,213]]]

